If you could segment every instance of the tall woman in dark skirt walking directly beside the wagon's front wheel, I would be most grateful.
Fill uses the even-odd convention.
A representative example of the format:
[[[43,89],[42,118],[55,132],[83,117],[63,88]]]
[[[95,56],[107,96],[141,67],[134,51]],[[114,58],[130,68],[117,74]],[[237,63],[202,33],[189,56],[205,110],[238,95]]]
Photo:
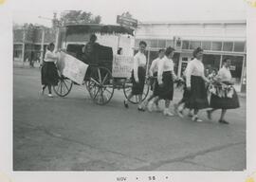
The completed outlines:
[[[128,108],[128,100],[134,96],[138,96],[138,111],[145,111],[142,107],[142,94],[144,90],[145,78],[146,78],[146,69],[147,59],[144,54],[147,44],[144,41],[139,42],[139,49],[137,54],[134,56],[134,67],[132,70],[132,92],[127,97],[127,100],[124,100],[124,107]]]

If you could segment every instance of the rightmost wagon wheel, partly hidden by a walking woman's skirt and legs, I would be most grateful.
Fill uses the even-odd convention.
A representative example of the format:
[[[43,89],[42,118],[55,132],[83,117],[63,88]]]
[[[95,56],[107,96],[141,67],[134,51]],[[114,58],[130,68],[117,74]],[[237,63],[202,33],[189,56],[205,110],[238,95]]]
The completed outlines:
[[[132,82],[125,82],[123,84],[123,93],[126,99],[128,99],[128,96],[132,93]],[[142,101],[145,100],[149,94],[149,84],[148,81],[145,81],[144,90],[142,94]],[[128,99],[129,100],[129,99]],[[138,96],[133,96],[130,100],[131,103],[137,104],[138,103]]]

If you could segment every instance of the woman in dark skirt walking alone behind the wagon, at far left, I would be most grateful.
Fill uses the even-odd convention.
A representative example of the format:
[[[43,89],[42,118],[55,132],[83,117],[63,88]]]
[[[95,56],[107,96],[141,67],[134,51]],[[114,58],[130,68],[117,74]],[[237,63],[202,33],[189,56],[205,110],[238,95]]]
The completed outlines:
[[[51,86],[58,83],[59,75],[55,62],[58,59],[56,53],[53,52],[55,45],[50,43],[47,46],[45,60],[41,69],[42,94],[44,94],[46,86],[48,87],[48,97],[52,97]]]

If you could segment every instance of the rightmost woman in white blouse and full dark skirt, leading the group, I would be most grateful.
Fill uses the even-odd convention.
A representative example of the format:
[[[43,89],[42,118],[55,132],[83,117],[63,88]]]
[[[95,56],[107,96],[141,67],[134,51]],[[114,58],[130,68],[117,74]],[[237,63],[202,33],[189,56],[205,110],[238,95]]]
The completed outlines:
[[[225,59],[223,61],[224,65],[223,67],[219,70],[218,75],[216,76],[216,79],[218,82],[221,82],[222,84],[229,86],[231,96],[227,96],[227,93],[225,93],[224,97],[220,97],[217,94],[211,94],[210,97],[210,107],[212,108],[211,110],[207,111],[208,118],[211,119],[211,114],[217,110],[221,109],[221,117],[219,119],[220,123],[223,124],[229,124],[227,120],[225,120],[225,115],[227,113],[228,109],[236,109],[240,106],[239,100],[236,94],[235,89],[231,86],[233,84],[232,82],[232,76],[229,70],[229,66],[231,64],[230,59]]]

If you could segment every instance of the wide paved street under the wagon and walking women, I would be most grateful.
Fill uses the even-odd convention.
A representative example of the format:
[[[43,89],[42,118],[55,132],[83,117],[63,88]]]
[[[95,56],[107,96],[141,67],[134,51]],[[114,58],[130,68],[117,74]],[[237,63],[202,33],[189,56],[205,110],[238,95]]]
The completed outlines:
[[[140,113],[115,91],[105,106],[83,86],[66,98],[41,96],[38,68],[13,69],[15,171],[242,171],[246,168],[246,100],[229,125],[201,112],[203,123]],[[174,93],[175,100],[180,93]],[[173,109],[173,107],[171,108]]]

